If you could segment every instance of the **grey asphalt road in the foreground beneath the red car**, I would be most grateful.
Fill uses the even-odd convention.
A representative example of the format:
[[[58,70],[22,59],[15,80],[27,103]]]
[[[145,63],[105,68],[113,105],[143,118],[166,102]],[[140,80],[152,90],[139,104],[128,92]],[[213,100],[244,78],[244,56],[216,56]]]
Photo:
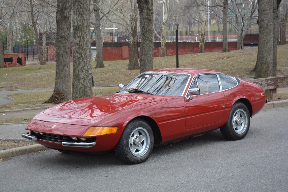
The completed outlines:
[[[287,191],[288,107],[262,110],[240,141],[219,130],[153,149],[137,165],[55,150],[0,162],[0,191]]]

